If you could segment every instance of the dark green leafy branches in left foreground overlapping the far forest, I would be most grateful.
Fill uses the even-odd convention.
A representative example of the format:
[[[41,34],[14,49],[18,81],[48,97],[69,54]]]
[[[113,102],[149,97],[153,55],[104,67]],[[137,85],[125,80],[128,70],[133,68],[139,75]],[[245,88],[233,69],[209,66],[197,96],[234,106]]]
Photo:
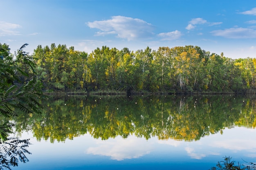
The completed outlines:
[[[35,78],[33,58],[23,51],[25,46],[13,56],[8,45],[0,44],[0,114],[5,117],[41,110],[41,82]]]

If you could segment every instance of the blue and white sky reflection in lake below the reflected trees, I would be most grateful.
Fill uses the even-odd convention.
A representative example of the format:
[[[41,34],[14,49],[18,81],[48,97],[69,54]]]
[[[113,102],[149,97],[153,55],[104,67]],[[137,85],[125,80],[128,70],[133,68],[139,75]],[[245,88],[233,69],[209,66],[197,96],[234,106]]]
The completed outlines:
[[[29,138],[31,133],[23,134]],[[13,170],[74,170],[74,169],[209,169],[222,157],[230,156],[240,163],[256,157],[256,130],[235,127],[211,134],[199,141],[174,139],[148,140],[134,135],[108,140],[94,139],[90,134],[67,139],[65,143],[38,142],[31,137],[28,163]]]

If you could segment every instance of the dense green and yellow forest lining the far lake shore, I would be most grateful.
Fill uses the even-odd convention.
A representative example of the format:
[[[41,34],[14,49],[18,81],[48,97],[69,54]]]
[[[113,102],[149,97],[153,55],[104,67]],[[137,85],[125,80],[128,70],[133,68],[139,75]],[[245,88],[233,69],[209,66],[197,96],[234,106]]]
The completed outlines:
[[[9,48],[7,44],[0,46]],[[157,51],[146,47],[135,52],[102,46],[88,54],[76,51],[73,46],[53,43],[38,45],[31,57],[36,63],[36,78],[49,93],[254,93],[256,90],[255,58],[231,59],[199,46],[159,47]]]

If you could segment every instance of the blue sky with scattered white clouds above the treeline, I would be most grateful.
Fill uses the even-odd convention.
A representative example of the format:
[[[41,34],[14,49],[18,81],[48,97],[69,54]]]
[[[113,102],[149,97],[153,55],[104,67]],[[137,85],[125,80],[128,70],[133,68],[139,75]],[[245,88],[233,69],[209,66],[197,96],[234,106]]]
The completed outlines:
[[[33,53],[40,44],[91,53],[109,46],[200,46],[256,57],[256,0],[0,0],[0,42]]]

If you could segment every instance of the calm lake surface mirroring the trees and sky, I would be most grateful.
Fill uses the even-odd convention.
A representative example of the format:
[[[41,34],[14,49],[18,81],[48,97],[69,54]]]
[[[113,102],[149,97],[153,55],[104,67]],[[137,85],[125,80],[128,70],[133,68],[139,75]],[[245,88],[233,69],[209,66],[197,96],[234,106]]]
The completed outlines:
[[[29,162],[13,170],[197,169],[256,161],[254,95],[50,95],[20,114]]]

